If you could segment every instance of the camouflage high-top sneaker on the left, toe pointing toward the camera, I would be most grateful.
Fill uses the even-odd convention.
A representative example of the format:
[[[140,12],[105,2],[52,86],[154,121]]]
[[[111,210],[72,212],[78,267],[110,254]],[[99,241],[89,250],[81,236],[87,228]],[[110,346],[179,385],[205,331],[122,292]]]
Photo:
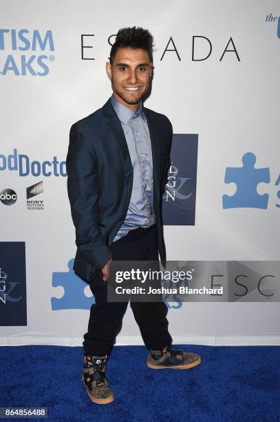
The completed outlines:
[[[109,388],[106,379],[107,354],[92,356],[84,354],[83,383],[89,394],[89,399],[98,404],[107,404],[114,401],[114,394]]]

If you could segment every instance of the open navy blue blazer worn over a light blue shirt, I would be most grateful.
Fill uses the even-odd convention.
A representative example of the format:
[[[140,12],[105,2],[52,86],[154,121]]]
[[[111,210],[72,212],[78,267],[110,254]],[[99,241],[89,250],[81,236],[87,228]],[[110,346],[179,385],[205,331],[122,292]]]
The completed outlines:
[[[162,194],[170,167],[172,125],[164,114],[144,107],[153,154],[153,208],[162,264],[166,252]],[[118,116],[105,106],[72,125],[66,159],[67,190],[76,228],[74,271],[89,283],[114,255],[110,243],[127,215],[133,168]]]

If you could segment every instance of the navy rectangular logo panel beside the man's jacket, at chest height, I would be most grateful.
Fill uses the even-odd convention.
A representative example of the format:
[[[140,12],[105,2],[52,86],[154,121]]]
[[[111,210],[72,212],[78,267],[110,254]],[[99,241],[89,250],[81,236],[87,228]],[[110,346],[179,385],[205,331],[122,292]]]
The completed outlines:
[[[173,134],[171,166],[162,197],[164,225],[195,225],[197,134]]]

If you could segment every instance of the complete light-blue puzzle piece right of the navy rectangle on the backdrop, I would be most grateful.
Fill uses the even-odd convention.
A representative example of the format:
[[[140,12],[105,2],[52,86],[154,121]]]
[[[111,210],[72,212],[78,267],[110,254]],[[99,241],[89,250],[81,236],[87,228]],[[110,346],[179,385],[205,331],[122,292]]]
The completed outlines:
[[[270,182],[269,168],[255,168],[256,156],[247,152],[242,157],[243,167],[227,167],[225,183],[236,183],[231,197],[223,195],[223,208],[268,208],[268,194],[259,195],[257,185]]]

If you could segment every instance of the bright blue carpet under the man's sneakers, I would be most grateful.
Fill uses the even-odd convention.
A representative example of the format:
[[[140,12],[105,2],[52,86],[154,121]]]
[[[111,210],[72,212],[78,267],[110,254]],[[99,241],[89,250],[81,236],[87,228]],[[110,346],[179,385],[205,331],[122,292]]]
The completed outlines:
[[[46,421],[280,421],[280,347],[180,348],[202,364],[151,370],[146,348],[115,347],[107,365],[115,401],[96,405],[81,381],[82,348],[1,347],[0,406],[48,408]]]

